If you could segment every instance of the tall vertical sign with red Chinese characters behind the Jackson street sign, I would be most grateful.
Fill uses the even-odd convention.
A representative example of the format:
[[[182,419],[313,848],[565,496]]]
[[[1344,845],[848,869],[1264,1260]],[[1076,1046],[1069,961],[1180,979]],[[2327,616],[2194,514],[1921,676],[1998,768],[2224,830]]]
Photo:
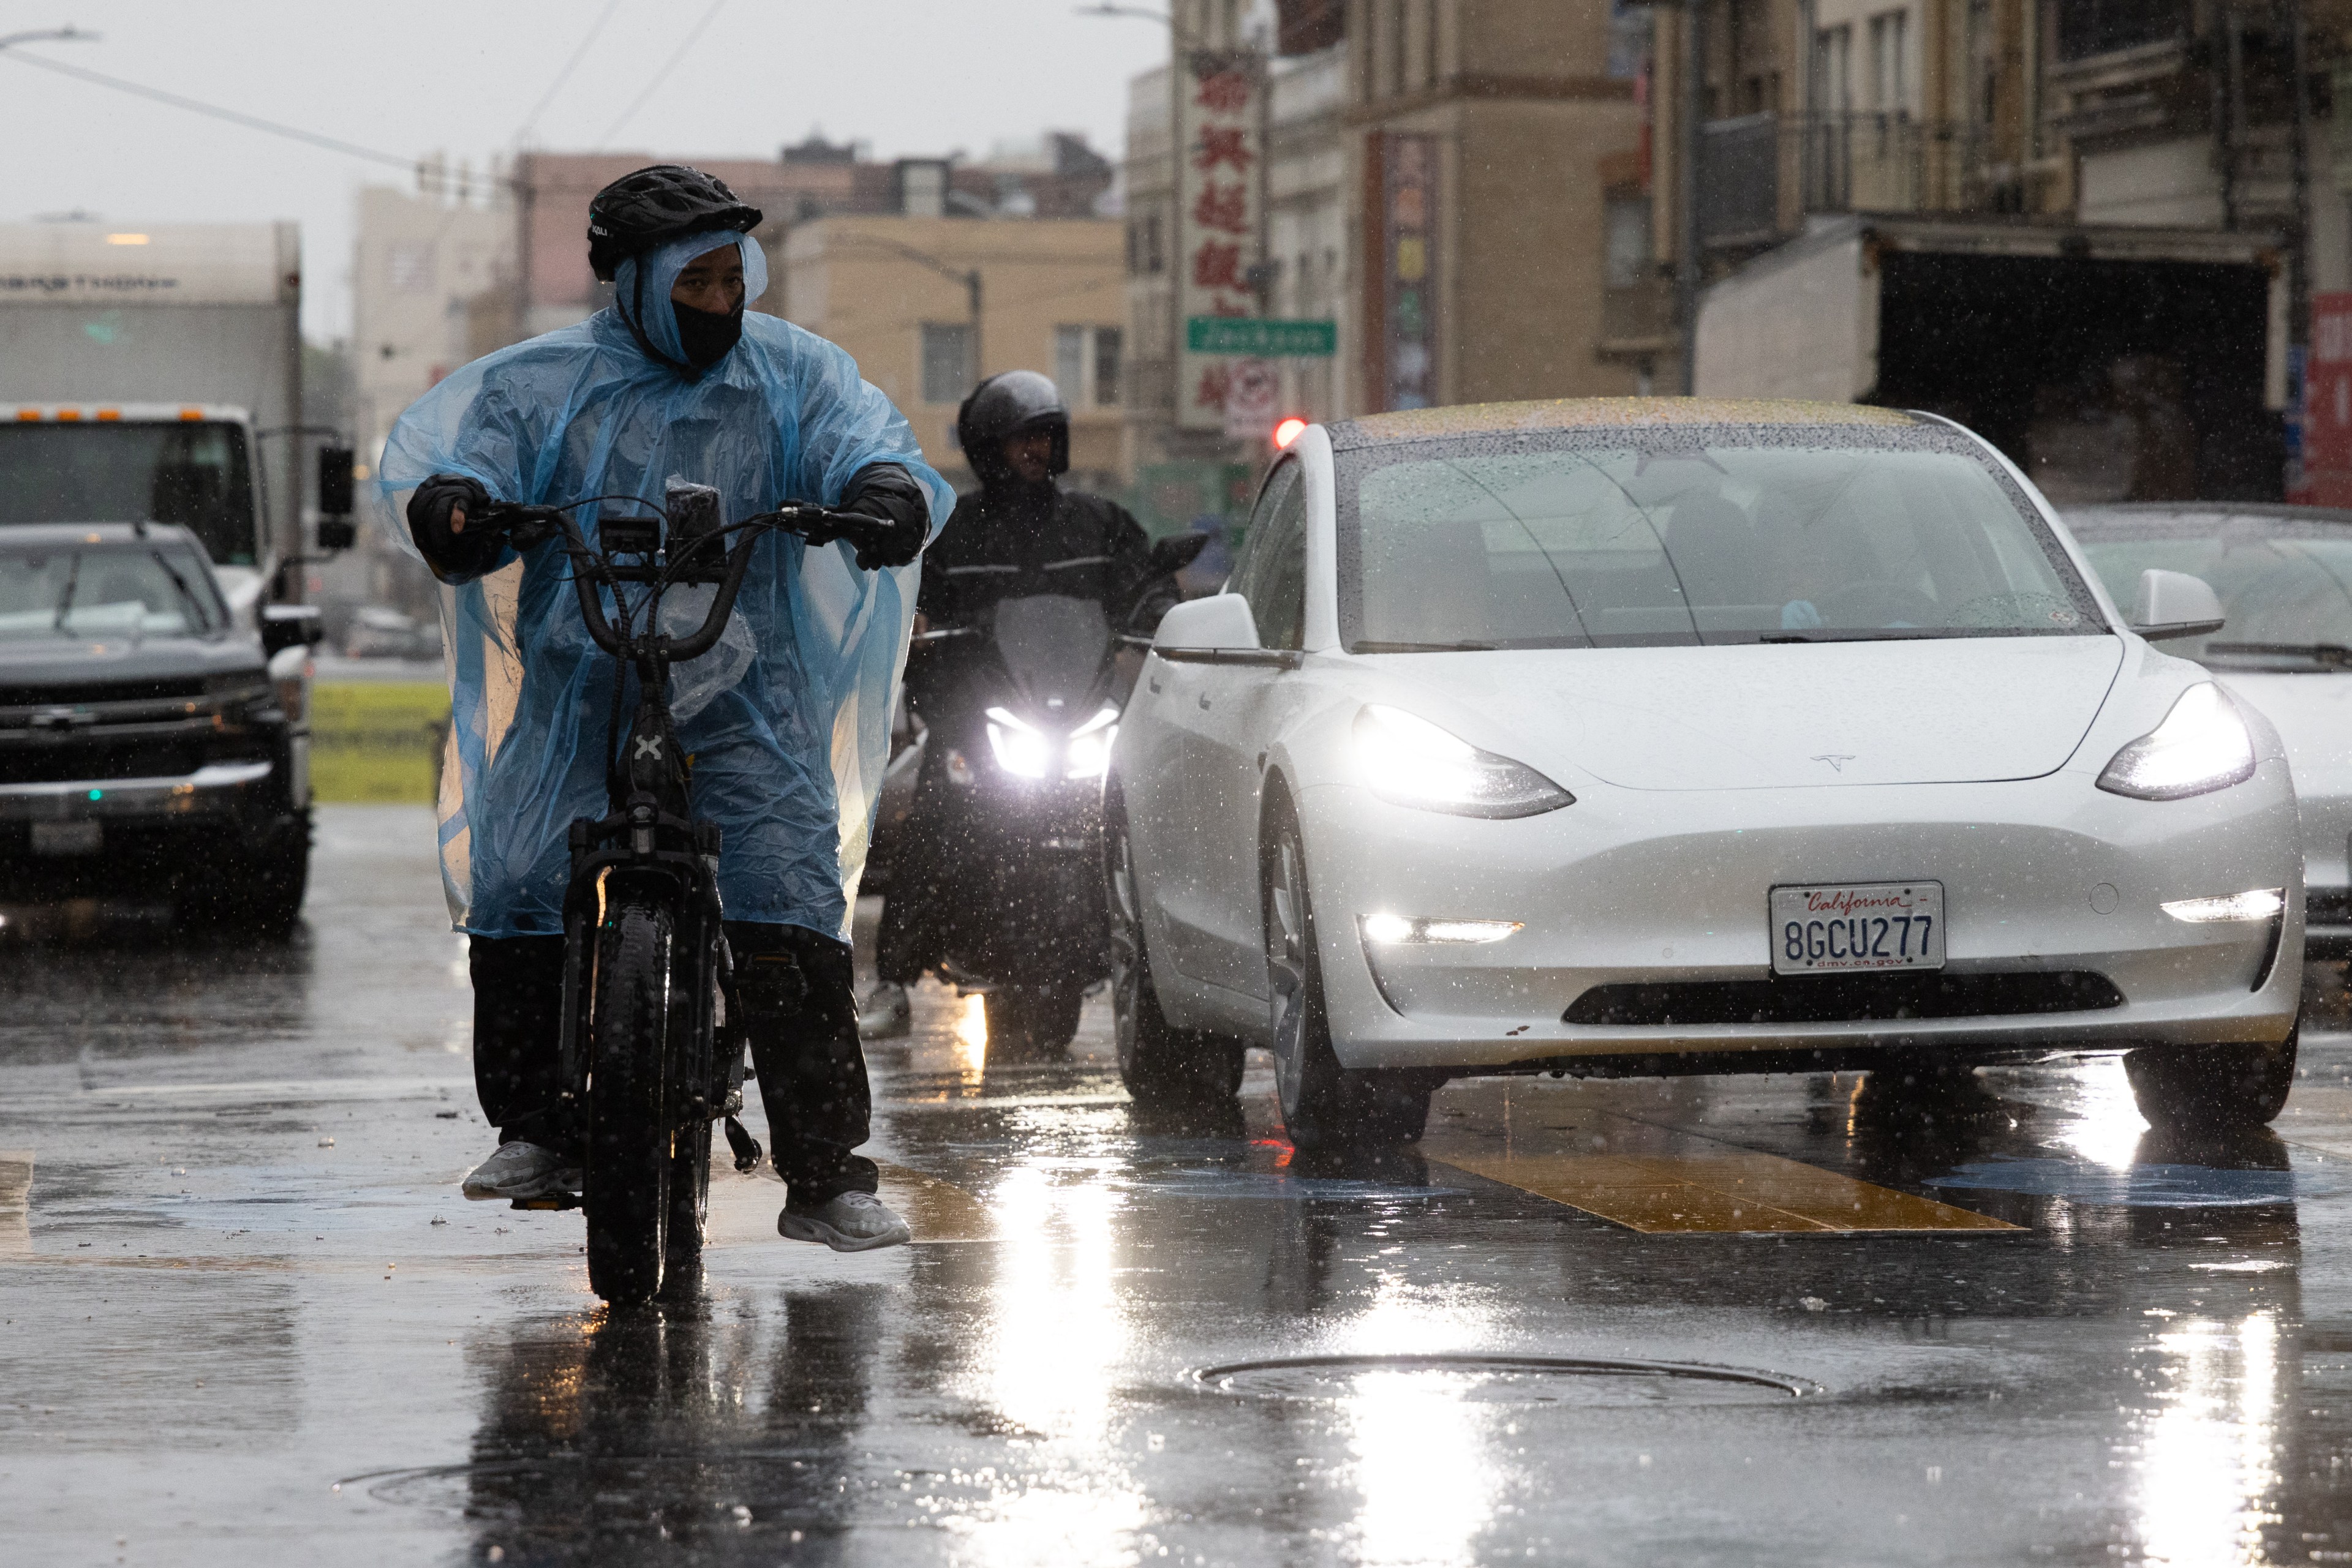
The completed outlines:
[[[1265,75],[1249,54],[1192,54],[1176,68],[1176,425],[1223,430],[1230,355],[1192,353],[1185,322],[1258,315],[1265,202]]]

